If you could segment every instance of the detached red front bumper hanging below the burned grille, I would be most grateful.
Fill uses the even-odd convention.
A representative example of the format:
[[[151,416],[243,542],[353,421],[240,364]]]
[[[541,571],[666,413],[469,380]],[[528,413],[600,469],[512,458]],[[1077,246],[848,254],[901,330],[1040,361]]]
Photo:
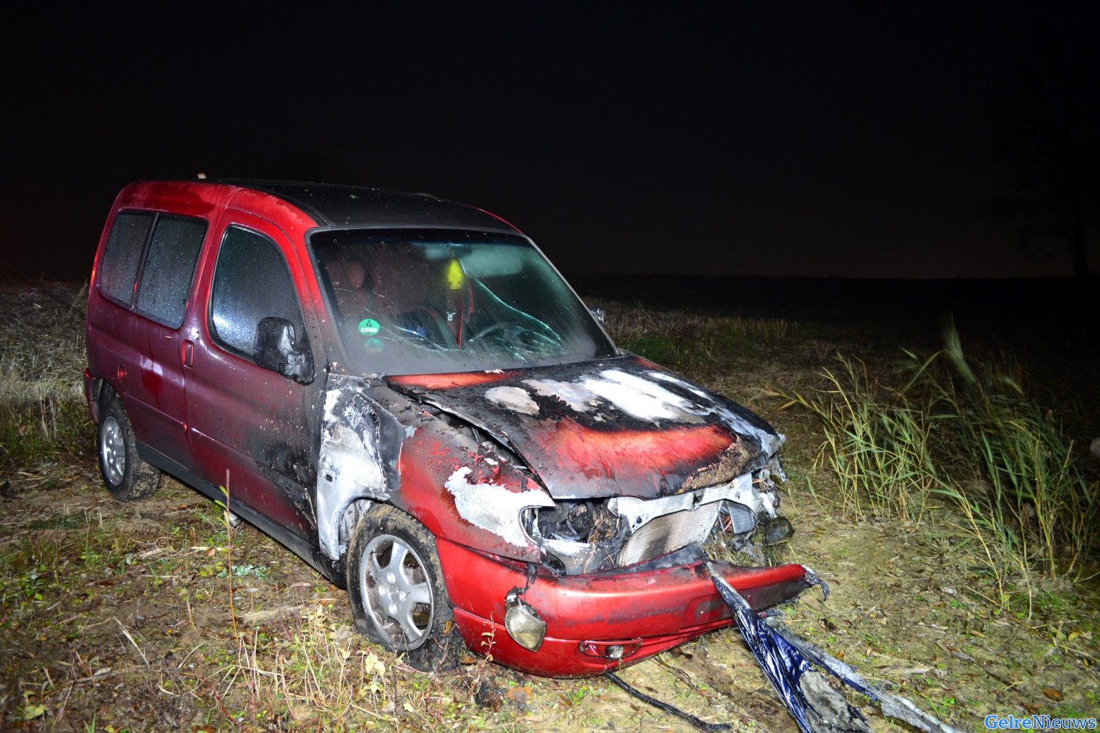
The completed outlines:
[[[670,568],[585,576],[540,571],[528,586],[527,566],[438,539],[454,622],[471,650],[543,677],[588,677],[634,664],[708,631],[734,623],[704,560]],[[794,598],[813,583],[801,565],[712,567],[759,611]],[[526,588],[526,590],[524,590]],[[505,597],[521,599],[547,622],[538,652],[504,628]],[[607,649],[622,646],[620,659]]]

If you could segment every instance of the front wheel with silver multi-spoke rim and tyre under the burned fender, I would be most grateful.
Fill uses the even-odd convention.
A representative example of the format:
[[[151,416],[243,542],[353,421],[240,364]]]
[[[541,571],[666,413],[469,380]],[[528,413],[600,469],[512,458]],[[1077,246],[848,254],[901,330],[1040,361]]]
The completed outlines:
[[[383,504],[360,519],[348,548],[355,626],[421,671],[453,669],[463,648],[454,628],[436,538]]]

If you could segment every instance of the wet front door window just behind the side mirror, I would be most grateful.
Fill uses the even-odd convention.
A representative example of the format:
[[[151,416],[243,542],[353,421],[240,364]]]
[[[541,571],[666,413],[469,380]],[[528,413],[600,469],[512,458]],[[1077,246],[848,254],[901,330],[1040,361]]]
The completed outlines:
[[[210,296],[215,340],[255,361],[256,327],[270,316],[290,321],[305,344],[298,296],[278,247],[262,234],[230,227],[218,252]]]

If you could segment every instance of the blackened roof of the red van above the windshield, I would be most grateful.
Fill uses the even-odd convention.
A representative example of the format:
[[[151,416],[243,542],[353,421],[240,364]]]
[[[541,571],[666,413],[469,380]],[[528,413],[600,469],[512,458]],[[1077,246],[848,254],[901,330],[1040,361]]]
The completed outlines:
[[[218,180],[277,196],[297,206],[322,227],[448,227],[518,231],[473,206],[428,194],[405,194],[366,186],[293,180]]]

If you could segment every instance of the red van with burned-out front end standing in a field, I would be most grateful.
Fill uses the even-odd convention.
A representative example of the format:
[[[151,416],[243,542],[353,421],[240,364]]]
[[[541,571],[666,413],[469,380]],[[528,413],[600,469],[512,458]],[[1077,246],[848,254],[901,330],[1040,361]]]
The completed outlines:
[[[107,489],[162,472],[345,587],[421,669],[598,675],[734,623],[703,545],[782,538],[782,437],[615,347],[530,239],[419,194],[138,183],[85,387]],[[800,565],[712,562],[762,610]]]

